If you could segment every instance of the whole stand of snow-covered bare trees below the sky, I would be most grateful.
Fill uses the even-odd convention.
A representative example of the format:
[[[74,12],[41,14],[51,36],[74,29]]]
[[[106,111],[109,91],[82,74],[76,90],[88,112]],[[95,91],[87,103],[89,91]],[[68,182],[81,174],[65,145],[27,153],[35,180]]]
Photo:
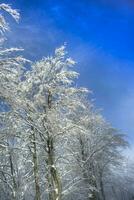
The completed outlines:
[[[77,87],[66,45],[35,63],[5,48],[8,17],[0,4],[0,200],[132,200],[129,144]],[[31,50],[32,51],[32,50]]]

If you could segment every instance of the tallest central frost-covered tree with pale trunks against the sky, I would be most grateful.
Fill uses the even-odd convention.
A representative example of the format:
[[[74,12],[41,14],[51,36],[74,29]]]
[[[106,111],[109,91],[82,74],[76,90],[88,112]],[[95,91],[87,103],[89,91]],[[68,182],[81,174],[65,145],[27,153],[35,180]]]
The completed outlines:
[[[62,46],[55,50],[53,57],[35,63],[19,86],[23,96],[22,110],[25,112],[21,117],[29,125],[32,139],[35,141],[33,162],[37,199],[40,199],[37,161],[37,146],[40,145],[44,151],[44,181],[48,182],[49,198],[56,200],[62,196],[56,151],[59,148],[59,140],[78,129],[70,115],[80,106],[78,95],[87,92],[84,88],[73,86],[73,81],[78,76],[78,73],[71,70],[74,64],[71,58],[67,58],[65,47]]]

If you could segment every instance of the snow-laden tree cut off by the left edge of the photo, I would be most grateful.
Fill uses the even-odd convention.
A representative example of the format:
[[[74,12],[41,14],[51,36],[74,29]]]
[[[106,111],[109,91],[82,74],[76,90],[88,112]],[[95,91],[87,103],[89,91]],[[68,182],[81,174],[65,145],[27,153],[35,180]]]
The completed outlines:
[[[11,15],[15,21],[19,20],[17,10],[7,4],[0,4],[0,179],[2,188],[0,196],[2,199],[21,199],[22,191],[19,186],[21,156],[18,158],[20,152],[16,151],[18,126],[12,111],[17,105],[17,86],[26,60],[18,55],[22,49],[4,48],[5,34],[9,30],[4,12]]]

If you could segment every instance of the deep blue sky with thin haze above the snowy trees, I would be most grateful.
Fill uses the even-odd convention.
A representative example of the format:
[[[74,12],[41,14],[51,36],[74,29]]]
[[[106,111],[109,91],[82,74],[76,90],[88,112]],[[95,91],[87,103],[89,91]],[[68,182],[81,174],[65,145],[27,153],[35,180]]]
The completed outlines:
[[[4,0],[3,0],[4,1]],[[134,3],[131,0],[7,0],[20,10],[9,43],[38,60],[68,44],[78,85],[134,144]]]

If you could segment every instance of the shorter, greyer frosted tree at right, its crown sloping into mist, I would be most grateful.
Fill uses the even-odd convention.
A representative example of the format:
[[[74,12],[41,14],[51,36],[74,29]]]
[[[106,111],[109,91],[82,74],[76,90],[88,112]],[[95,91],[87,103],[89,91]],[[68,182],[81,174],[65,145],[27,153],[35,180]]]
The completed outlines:
[[[86,119],[89,135],[78,138],[80,154],[77,160],[88,184],[89,199],[105,200],[106,182],[112,169],[121,164],[120,151],[127,146],[127,142],[100,114],[90,111]]]

